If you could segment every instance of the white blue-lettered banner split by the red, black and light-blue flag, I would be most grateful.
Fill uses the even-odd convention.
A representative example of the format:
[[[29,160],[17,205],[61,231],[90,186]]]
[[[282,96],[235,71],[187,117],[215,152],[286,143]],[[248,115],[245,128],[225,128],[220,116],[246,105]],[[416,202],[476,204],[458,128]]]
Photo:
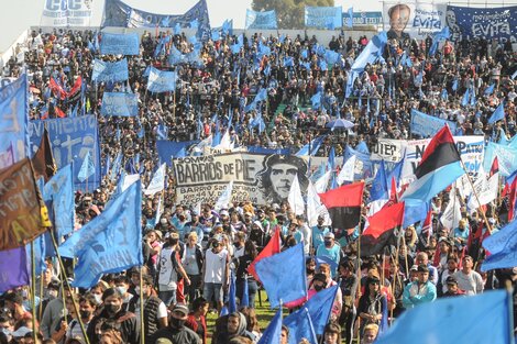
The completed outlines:
[[[426,151],[431,138],[410,140],[406,143],[406,153],[404,154],[404,166],[402,173],[403,180],[413,178],[415,170]],[[483,136],[454,136],[454,143],[460,152],[461,159],[465,164],[470,176],[475,177],[483,164],[485,152],[485,141]]]

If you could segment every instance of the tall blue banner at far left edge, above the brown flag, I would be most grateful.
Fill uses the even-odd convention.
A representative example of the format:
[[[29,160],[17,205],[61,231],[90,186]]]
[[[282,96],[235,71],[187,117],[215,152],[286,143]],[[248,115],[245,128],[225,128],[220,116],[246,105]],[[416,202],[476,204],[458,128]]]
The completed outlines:
[[[0,152],[14,148],[14,162],[28,156],[28,84],[25,75],[0,88]],[[34,151],[35,152],[35,151]]]

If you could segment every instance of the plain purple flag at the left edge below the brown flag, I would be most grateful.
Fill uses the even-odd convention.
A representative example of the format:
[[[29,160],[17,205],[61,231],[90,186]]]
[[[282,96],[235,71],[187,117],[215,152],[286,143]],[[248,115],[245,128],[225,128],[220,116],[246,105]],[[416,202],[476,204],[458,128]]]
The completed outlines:
[[[0,251],[0,293],[30,284],[25,246]]]

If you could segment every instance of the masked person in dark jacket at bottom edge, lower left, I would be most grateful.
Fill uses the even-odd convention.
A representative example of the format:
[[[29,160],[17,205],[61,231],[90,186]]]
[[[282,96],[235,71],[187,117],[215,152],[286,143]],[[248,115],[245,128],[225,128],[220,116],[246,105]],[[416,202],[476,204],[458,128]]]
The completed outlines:
[[[123,343],[140,344],[140,319],[132,312],[122,309],[123,296],[117,288],[109,288],[102,293],[103,309],[99,315],[94,317],[86,333],[91,344],[98,344],[97,330],[100,323],[113,321],[120,325]]]

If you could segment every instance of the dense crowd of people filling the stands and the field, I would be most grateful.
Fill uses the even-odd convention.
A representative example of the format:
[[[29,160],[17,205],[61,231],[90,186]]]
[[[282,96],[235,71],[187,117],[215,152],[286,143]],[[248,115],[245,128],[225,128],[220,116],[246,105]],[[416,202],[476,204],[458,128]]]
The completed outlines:
[[[229,129],[232,142],[242,146],[288,148],[295,154],[314,137],[328,133],[330,121],[341,118],[354,123],[350,131],[328,135],[318,156],[328,156],[331,147],[342,154],[346,145],[354,147],[360,142],[372,147],[382,137],[415,138],[409,125],[411,109],[455,122],[460,129],[457,134],[484,135],[487,141],[498,141],[502,127],[508,138],[517,130],[517,86],[512,79],[517,54],[508,42],[446,42],[430,56],[430,37],[421,42],[409,37],[389,40],[384,58],[365,68],[346,99],[351,65],[371,37],[353,40],[337,32],[330,43],[322,44],[304,32],[296,37],[253,34],[244,35],[244,44],[233,53],[231,46],[238,35],[227,35],[202,43],[202,66],[170,66],[167,53],[172,45],[184,54],[194,46],[184,33],[172,35],[156,54],[156,46],[169,34],[143,34],[141,55],[127,56],[127,82],[91,81],[95,58],[120,59],[99,55],[96,41],[101,38],[100,33],[61,29],[33,31],[25,46],[18,47],[28,49],[24,58],[11,58],[2,76],[18,77],[26,71],[31,120],[58,118],[62,112],[69,116],[77,102],[77,115],[95,114],[101,160],[114,158],[119,152],[124,162],[139,156],[136,169],[144,185],[158,166],[157,140],[202,140],[216,130],[222,133]],[[262,45],[271,48],[271,55],[258,53]],[[321,63],[321,48],[340,53],[339,60],[333,66]],[[286,57],[293,57],[293,63],[286,64]],[[148,92],[148,66],[176,70],[176,91]],[[59,99],[51,90],[51,77],[64,89],[70,89],[81,77],[86,84],[84,99]],[[493,84],[495,90],[486,93]],[[266,101],[245,111],[262,88],[267,90]],[[475,103],[462,104],[466,89],[475,93]],[[138,95],[138,116],[101,115],[105,91]],[[321,106],[312,107],[311,98],[318,92],[322,95]],[[487,124],[503,101],[504,123]],[[277,111],[280,104],[285,108]],[[215,113],[220,125],[212,120]],[[251,125],[258,113],[265,130]],[[142,335],[146,343],[257,343],[265,330],[258,325],[255,312],[261,284],[248,267],[276,231],[280,231],[283,249],[305,243],[309,297],[339,285],[321,335],[326,344],[352,343],[358,336],[361,343],[373,343],[385,323],[405,310],[437,298],[503,288],[517,277],[513,269],[481,273],[481,210],[469,214],[462,207],[463,219],[458,228],[444,228],[438,221],[448,202],[444,193],[431,204],[432,231],[422,231],[421,223],[404,229],[398,257],[393,254],[395,249],[392,255],[358,257],[358,237],[364,221],[356,228],[334,229],[319,218],[317,225],[309,226],[307,218],[296,215],[286,201],[235,202],[224,209],[207,202],[199,210],[197,204],[177,203],[172,171],[167,179],[163,195],[143,198],[144,266],[106,275],[90,290],[69,290],[63,287],[64,276],[58,273],[56,259],[48,259],[37,279],[36,319],[28,286],[0,298],[0,343],[33,343],[33,322],[37,341],[48,344],[86,343],[85,335],[89,343],[102,344],[138,344]],[[116,184],[107,174],[98,189],[76,193],[77,228],[102,213]],[[161,196],[164,211],[156,217]],[[363,218],[367,202],[365,192]],[[486,217],[494,228],[505,223],[505,211],[504,199],[487,207]],[[68,273],[73,277],[72,269]],[[241,307],[224,314],[232,276]],[[289,310],[299,306],[292,304]],[[207,325],[209,313],[217,314],[210,315],[217,318],[213,326]],[[283,326],[280,343],[288,343],[288,337],[289,329]]]

